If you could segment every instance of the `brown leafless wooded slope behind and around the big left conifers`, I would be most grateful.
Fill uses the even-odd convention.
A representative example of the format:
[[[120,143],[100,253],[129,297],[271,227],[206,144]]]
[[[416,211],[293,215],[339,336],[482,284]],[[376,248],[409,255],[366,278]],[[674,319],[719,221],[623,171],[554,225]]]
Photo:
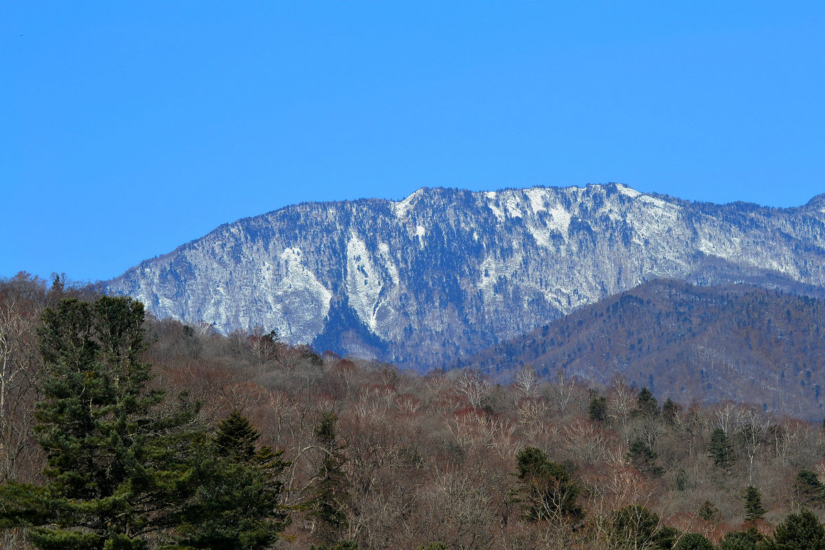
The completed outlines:
[[[48,453],[38,452],[31,432],[44,418],[32,412],[52,390],[42,386],[37,333],[62,326],[42,311],[64,311],[59,299],[67,296],[99,302],[59,280],[47,288],[21,275],[0,284],[3,487],[44,482]],[[149,346],[134,364],[151,364],[153,378],[140,395],[163,390],[158,411],[201,402],[193,424],[181,430],[198,427],[227,464],[240,456],[221,458],[227,431],[249,435],[236,441],[254,449],[283,451],[272,514],[288,519],[272,524],[280,530],[271,548],[684,550],[714,543],[732,550],[796,548],[781,545],[799,533],[825,539],[821,421],[733,402],[680,407],[621,377],[597,383],[520,369],[515,383],[498,385],[475,369],[422,376],[288,346],[272,333],[221,336],[208,326],[153,318],[143,329]],[[243,427],[239,419],[259,436],[229,430]],[[194,498],[186,495],[181,499]],[[188,503],[172,504],[193,510]],[[0,527],[10,526],[12,508],[2,502]],[[164,529],[205,540],[195,536],[203,529],[179,525]],[[26,548],[24,531],[3,531],[6,548]],[[163,548],[165,533],[145,534],[145,548]]]

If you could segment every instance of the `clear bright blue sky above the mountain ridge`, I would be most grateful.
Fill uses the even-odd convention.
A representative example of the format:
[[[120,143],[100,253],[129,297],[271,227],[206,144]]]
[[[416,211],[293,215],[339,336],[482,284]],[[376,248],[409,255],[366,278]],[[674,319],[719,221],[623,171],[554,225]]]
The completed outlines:
[[[823,2],[2,2],[0,276],[305,200],[825,191]]]

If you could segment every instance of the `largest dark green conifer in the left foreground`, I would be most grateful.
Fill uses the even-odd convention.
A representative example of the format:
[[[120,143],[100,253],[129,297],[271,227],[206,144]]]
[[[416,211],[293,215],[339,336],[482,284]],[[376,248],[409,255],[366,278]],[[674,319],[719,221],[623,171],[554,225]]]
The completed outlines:
[[[164,393],[147,388],[143,304],[68,299],[43,320],[35,437],[45,486],[0,486],[0,527],[24,527],[48,550],[176,548],[199,495],[227,477],[200,460],[214,445],[197,427],[197,405],[163,404]],[[236,473],[233,482],[250,482],[248,468]]]

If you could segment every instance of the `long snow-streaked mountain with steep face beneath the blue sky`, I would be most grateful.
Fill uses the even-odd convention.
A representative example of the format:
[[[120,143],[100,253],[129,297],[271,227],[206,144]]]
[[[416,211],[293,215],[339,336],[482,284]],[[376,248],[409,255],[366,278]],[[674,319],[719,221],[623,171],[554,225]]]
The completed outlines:
[[[825,195],[772,209],[608,184],[304,203],[224,224],[106,287],[158,317],[424,369],[662,278],[825,286]]]

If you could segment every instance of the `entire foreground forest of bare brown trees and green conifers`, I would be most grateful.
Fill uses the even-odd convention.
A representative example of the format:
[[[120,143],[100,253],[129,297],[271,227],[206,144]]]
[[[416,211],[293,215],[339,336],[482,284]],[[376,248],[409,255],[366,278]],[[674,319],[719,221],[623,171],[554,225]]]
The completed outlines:
[[[670,397],[420,375],[21,274],[2,548],[825,548],[822,423]]]

